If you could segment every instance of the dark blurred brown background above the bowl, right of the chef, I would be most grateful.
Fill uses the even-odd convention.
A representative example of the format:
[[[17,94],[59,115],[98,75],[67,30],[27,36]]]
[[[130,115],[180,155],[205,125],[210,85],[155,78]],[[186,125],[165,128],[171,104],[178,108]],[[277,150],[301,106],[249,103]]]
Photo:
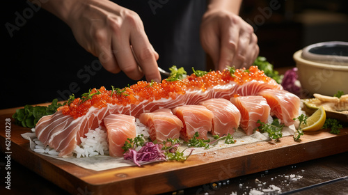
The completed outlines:
[[[254,27],[260,56],[275,68],[295,65],[292,54],[307,45],[348,41],[346,0],[244,0],[240,15]]]

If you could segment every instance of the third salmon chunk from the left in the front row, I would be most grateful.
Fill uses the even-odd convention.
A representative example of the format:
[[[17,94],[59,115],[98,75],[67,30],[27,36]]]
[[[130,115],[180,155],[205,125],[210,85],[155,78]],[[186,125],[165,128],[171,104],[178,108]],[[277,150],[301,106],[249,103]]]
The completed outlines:
[[[201,105],[187,105],[176,107],[173,114],[184,124],[180,131],[180,137],[184,141],[189,141],[196,132],[199,134],[198,139],[207,139],[207,132],[212,130],[212,111]]]

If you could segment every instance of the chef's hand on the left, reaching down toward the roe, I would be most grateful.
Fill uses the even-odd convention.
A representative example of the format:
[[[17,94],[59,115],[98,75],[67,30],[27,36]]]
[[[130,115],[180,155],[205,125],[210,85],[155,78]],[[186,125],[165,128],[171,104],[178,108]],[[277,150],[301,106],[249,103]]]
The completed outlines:
[[[134,11],[108,0],[49,0],[42,7],[67,23],[77,42],[109,72],[161,81],[159,56]]]

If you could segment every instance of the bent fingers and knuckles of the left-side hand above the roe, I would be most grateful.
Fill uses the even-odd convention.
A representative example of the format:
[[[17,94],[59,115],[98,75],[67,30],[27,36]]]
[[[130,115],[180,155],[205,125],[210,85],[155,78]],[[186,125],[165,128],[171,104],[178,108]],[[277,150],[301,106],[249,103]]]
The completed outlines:
[[[160,82],[159,55],[148,41],[139,15],[125,11],[122,19],[108,17],[107,24],[106,33],[97,41],[98,57],[104,68],[113,73],[123,71],[134,80],[145,75],[148,81]]]

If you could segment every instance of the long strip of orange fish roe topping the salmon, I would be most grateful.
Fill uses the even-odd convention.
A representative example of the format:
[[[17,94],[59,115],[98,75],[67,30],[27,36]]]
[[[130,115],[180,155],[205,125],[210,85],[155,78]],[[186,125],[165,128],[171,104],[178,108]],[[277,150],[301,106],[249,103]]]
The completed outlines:
[[[70,104],[65,104],[59,107],[58,110],[62,111],[65,115],[79,118],[84,116],[90,107],[96,107],[102,109],[107,104],[118,104],[126,106],[127,104],[139,104],[144,100],[152,102],[153,100],[160,100],[161,98],[175,99],[176,95],[184,95],[187,90],[202,90],[206,91],[217,85],[228,84],[230,81],[235,81],[237,84],[242,85],[248,81],[257,80],[269,82],[271,78],[264,75],[264,72],[258,70],[257,66],[251,66],[248,70],[245,68],[235,70],[231,75],[230,71],[210,71],[202,77],[197,77],[192,74],[187,76],[186,79],[179,81],[167,81],[164,79],[161,83],[138,81],[125,88],[116,88],[112,90],[106,90],[104,86],[100,89],[93,88],[87,96],[87,98],[76,98]],[[94,93],[94,95],[93,95]]]

